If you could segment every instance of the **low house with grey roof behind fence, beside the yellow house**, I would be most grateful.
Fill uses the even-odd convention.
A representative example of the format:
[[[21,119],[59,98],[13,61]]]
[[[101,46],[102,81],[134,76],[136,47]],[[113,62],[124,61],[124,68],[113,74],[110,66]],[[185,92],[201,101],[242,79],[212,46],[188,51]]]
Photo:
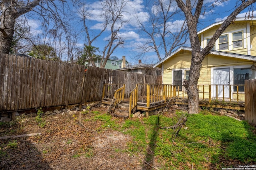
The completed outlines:
[[[126,66],[125,68],[118,69],[120,71],[127,71],[139,74],[148,74],[152,76],[161,76],[161,69],[156,67],[153,68],[153,64],[144,64],[139,60],[138,64],[132,66]]]

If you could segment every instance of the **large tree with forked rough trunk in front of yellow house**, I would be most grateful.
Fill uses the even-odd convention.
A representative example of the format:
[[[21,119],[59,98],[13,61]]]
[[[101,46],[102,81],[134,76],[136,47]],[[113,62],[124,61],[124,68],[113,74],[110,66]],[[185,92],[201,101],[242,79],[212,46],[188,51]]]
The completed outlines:
[[[224,2],[225,0],[219,0]],[[215,41],[220,37],[220,35],[225,31],[225,29],[236,19],[236,16],[245,8],[252,5],[256,0],[241,0],[238,1],[240,4],[234,8],[234,11],[228,16],[228,18],[220,25],[216,30],[209,43],[204,49],[200,49],[200,41],[197,35],[197,24],[198,19],[201,14],[202,6],[204,0],[195,1],[195,4],[191,4],[190,0],[176,0],[179,8],[183,11],[186,16],[188,33],[190,37],[190,43],[192,48],[192,59],[190,66],[189,79],[184,80],[183,84],[188,92],[188,106],[190,107],[189,113],[198,113],[199,110],[199,94],[197,83],[200,76],[200,68],[202,66],[202,61],[206,55],[210,53],[210,50],[214,46]],[[194,1],[193,1],[194,2]],[[195,9],[193,6],[195,5]]]

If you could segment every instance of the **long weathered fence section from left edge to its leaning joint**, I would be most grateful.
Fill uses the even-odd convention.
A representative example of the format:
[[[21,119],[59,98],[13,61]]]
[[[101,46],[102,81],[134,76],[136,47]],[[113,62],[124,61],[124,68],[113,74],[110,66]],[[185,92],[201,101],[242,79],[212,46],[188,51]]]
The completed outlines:
[[[85,66],[0,55],[0,111],[81,103]]]

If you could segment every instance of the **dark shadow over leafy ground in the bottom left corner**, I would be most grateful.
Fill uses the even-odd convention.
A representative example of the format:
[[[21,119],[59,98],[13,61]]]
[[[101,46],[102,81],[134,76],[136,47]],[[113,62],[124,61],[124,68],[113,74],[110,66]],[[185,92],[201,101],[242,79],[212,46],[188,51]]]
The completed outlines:
[[[8,125],[0,125],[0,129]],[[3,127],[6,126],[6,127]],[[18,128],[18,127],[17,127]],[[20,131],[19,134],[26,134]],[[5,134],[0,134],[6,136]],[[0,170],[50,170],[42,153],[28,137],[0,140]]]

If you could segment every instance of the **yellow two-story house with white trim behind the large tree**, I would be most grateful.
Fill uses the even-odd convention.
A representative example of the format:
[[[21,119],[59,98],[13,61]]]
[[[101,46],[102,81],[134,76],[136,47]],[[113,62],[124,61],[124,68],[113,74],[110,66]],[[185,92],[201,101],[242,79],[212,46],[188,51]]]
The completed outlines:
[[[204,48],[216,29],[223,23],[219,21],[200,31],[198,37]],[[218,97],[233,98],[237,86],[244,84],[246,79],[256,78],[256,20],[236,18],[233,24],[217,39],[215,46],[208,54],[200,69],[198,85],[221,84],[218,86]],[[188,80],[191,65],[191,48],[180,47],[168,55],[154,67],[162,70],[164,84],[174,84],[182,90],[182,82]],[[223,93],[224,88],[224,93]],[[231,88],[231,89],[230,89]],[[202,88],[199,89],[202,91]],[[211,89],[212,97],[216,96],[216,86]],[[244,92],[244,86],[239,86],[238,93]]]

